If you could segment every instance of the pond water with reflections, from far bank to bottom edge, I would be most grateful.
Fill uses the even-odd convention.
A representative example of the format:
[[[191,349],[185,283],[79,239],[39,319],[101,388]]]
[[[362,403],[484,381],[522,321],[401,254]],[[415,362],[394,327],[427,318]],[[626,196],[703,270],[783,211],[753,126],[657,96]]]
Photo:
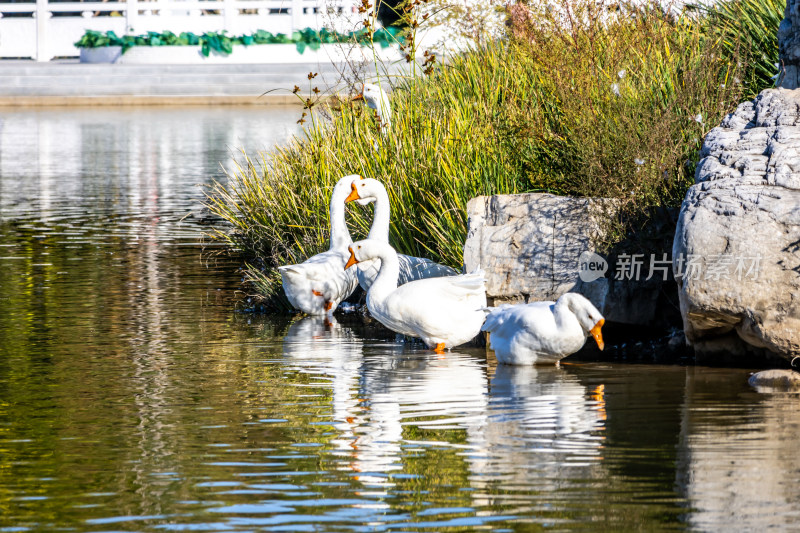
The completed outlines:
[[[0,532],[800,527],[800,398],[747,370],[237,311],[200,186],[296,114],[3,114]]]

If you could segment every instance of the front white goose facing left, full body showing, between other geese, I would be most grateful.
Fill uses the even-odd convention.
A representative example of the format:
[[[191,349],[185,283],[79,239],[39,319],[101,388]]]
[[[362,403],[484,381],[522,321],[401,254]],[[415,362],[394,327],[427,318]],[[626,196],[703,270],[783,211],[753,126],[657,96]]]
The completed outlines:
[[[483,271],[420,279],[397,286],[400,263],[388,243],[366,239],[350,245],[345,268],[380,259],[377,278],[367,292],[367,309],[381,324],[403,335],[419,337],[441,353],[472,340],[486,317]]]

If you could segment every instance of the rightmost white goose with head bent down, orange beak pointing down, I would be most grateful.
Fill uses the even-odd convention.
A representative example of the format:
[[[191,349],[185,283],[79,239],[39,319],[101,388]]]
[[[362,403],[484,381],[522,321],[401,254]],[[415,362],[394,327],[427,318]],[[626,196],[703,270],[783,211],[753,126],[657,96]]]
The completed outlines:
[[[580,350],[589,334],[602,350],[604,323],[589,300],[570,292],[556,302],[492,308],[481,329],[489,332],[497,362],[534,365],[558,363]]]

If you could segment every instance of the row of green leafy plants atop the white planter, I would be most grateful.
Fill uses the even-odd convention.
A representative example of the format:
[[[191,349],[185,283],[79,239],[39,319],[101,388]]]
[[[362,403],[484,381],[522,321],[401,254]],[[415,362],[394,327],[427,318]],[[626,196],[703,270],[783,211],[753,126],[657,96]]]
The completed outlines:
[[[75,43],[78,48],[102,48],[106,46],[120,46],[122,53],[125,53],[133,46],[200,46],[202,54],[206,57],[214,51],[219,54],[228,55],[233,51],[235,45],[250,46],[254,44],[295,44],[297,51],[303,53],[306,47],[311,50],[318,50],[321,44],[335,44],[356,42],[358,44],[369,44],[374,42],[382,47],[401,42],[400,31],[395,28],[384,28],[376,31],[370,40],[369,32],[360,30],[350,33],[339,33],[323,28],[313,30],[306,28],[295,31],[291,36],[283,33],[272,34],[268,31],[258,30],[247,35],[229,36],[225,31],[206,32],[197,35],[191,32],[184,32],[175,35],[170,31],[162,33],[148,32],[143,35],[124,35],[118,36],[113,31],[99,32],[87,30],[86,33]]]

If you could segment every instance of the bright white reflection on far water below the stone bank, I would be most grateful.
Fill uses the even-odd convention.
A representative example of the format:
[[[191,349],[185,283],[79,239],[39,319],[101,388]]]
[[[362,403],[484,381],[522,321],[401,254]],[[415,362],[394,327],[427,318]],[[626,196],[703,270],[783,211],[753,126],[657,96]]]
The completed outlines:
[[[3,220],[133,238],[197,239],[199,186],[224,178],[239,149],[255,153],[297,131],[296,108],[44,109],[4,112]],[[237,156],[238,157],[238,156]],[[195,217],[196,218],[196,217]],[[189,222],[193,222],[189,217]]]

